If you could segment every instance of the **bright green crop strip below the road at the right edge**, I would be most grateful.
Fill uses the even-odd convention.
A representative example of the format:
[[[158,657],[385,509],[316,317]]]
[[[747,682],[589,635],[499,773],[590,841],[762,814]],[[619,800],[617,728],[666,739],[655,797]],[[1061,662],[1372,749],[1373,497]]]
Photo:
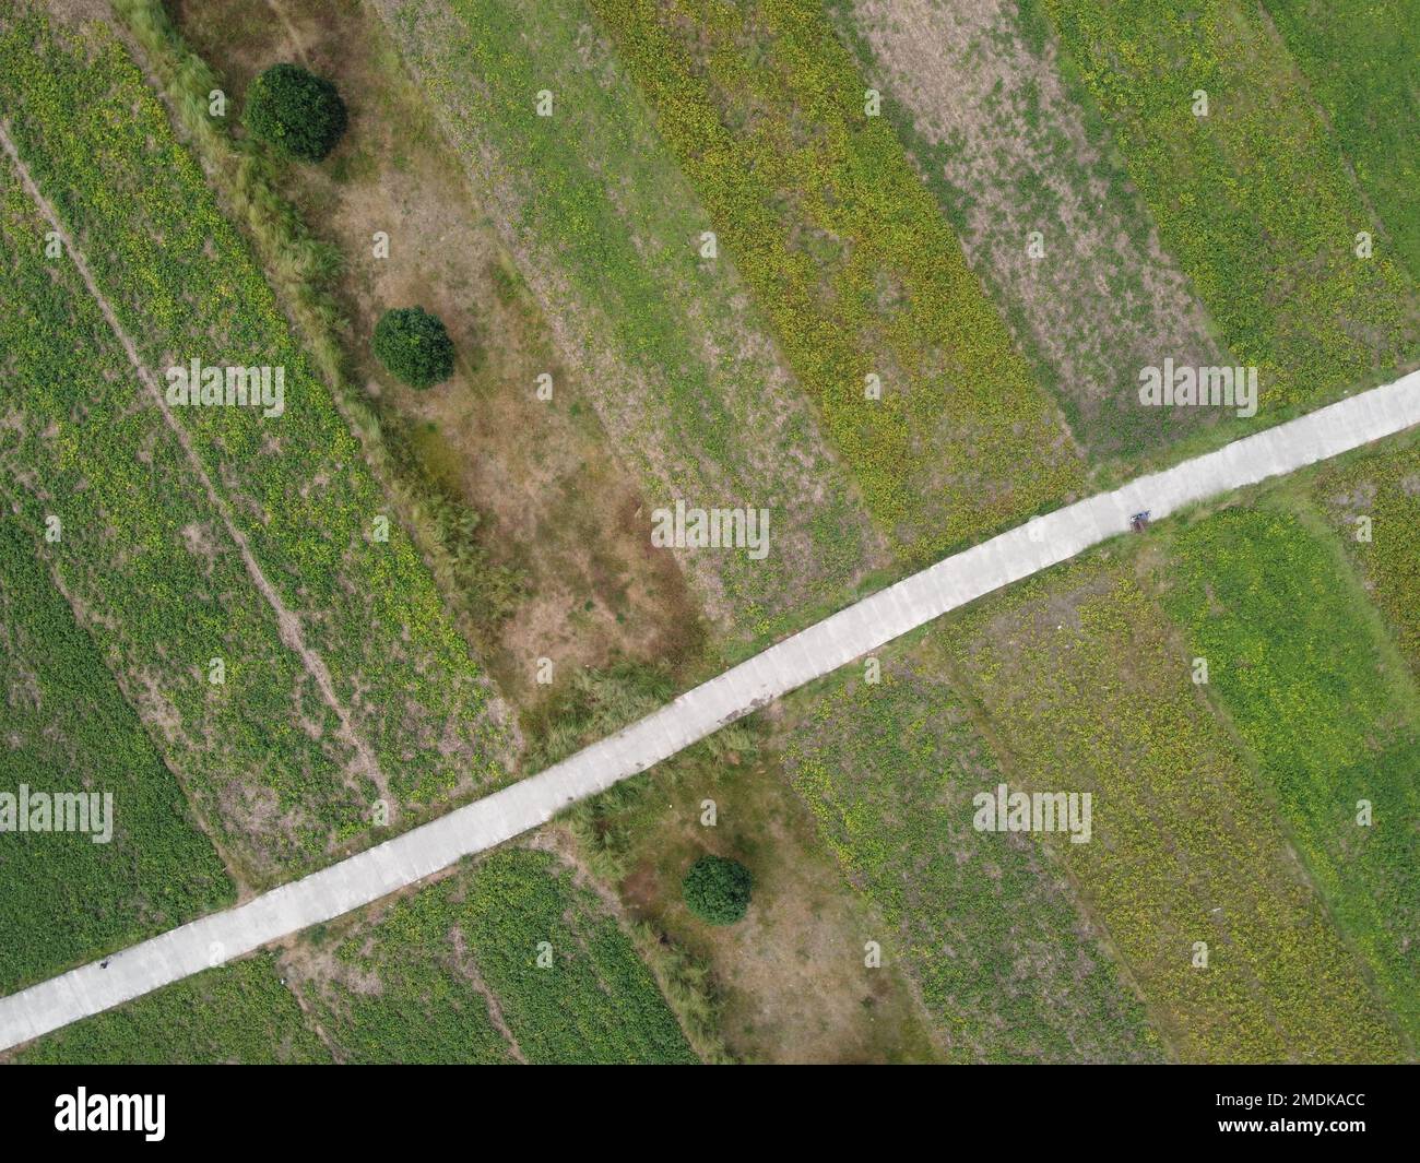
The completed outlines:
[[[1164,606],[1257,757],[1308,872],[1420,1037],[1416,689],[1325,531],[1225,510],[1181,530]],[[1363,801],[1373,822],[1362,825]]]

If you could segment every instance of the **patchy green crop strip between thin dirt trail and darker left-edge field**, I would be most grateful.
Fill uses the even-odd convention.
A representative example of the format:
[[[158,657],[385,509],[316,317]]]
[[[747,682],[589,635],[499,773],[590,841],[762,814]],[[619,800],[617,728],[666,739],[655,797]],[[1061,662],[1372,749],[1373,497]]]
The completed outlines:
[[[60,518],[51,569],[219,848],[230,843],[239,879],[320,851],[332,826],[359,819],[341,780],[354,755],[270,606],[251,601],[178,442],[156,410],[133,408],[98,307],[71,268],[44,264],[47,223],[9,162],[0,183],[10,508],[31,540]],[[213,657],[222,686],[209,682]]]

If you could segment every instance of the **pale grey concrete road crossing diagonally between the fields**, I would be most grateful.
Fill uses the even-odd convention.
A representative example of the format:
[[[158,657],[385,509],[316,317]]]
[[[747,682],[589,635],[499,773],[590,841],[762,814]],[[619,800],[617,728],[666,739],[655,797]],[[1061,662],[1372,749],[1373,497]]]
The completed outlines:
[[[947,611],[1183,506],[1336,456],[1420,423],[1420,372],[946,558],[787,638],[555,767],[223,913],[0,1000],[0,1049],[108,1010],[402,889],[545,824],[781,694]]]

